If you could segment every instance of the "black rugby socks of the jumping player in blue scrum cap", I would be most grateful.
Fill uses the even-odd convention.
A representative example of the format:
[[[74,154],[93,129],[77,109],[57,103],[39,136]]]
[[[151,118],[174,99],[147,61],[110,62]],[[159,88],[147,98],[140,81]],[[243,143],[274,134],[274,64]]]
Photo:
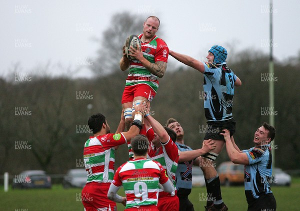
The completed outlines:
[[[205,180],[205,184],[206,184],[206,180]],[[207,196],[209,196],[207,197],[207,200],[209,198],[212,198],[213,207],[216,209],[221,209],[223,206],[223,200],[222,200],[220,180],[218,175],[216,175],[216,177],[207,180],[206,190],[207,190]],[[206,205],[207,203],[208,201],[206,202]],[[210,202],[210,206],[211,206],[211,202]]]

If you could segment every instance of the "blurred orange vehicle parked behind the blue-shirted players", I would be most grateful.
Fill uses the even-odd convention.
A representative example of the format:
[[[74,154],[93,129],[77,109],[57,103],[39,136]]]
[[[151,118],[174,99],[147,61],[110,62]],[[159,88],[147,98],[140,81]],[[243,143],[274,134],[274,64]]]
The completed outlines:
[[[221,163],[217,168],[220,184],[225,186],[244,184],[244,165],[230,161]]]

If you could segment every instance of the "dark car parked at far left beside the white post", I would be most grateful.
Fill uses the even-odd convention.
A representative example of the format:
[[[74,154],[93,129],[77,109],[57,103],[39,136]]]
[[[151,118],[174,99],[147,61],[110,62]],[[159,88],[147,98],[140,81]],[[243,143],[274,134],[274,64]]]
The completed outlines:
[[[12,180],[12,189],[51,188],[51,178],[42,170],[28,170],[16,175]]]

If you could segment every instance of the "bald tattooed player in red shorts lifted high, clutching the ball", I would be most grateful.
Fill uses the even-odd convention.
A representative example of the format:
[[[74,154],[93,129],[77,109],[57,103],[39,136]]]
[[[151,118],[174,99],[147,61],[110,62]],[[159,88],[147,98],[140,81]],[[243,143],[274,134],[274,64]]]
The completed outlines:
[[[126,130],[133,121],[133,105],[139,104],[144,99],[148,101],[153,99],[158,88],[158,78],[161,78],[166,70],[168,47],[155,35],[159,24],[160,21],[155,16],[149,16],[144,21],[142,34],[138,35],[141,41],[141,51],[134,48],[129,50],[129,55],[135,57],[135,60],[127,58],[125,47],[123,47],[120,69],[125,71],[129,67],[121,99]]]

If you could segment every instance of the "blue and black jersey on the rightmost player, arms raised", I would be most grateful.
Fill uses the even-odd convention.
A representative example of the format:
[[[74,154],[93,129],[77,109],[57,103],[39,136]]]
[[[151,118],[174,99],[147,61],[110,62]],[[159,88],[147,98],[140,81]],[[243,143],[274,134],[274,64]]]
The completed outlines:
[[[271,188],[269,179],[272,176],[272,154],[270,145],[252,147],[243,150],[249,165],[245,165],[245,195],[248,204],[264,194],[269,194]]]

